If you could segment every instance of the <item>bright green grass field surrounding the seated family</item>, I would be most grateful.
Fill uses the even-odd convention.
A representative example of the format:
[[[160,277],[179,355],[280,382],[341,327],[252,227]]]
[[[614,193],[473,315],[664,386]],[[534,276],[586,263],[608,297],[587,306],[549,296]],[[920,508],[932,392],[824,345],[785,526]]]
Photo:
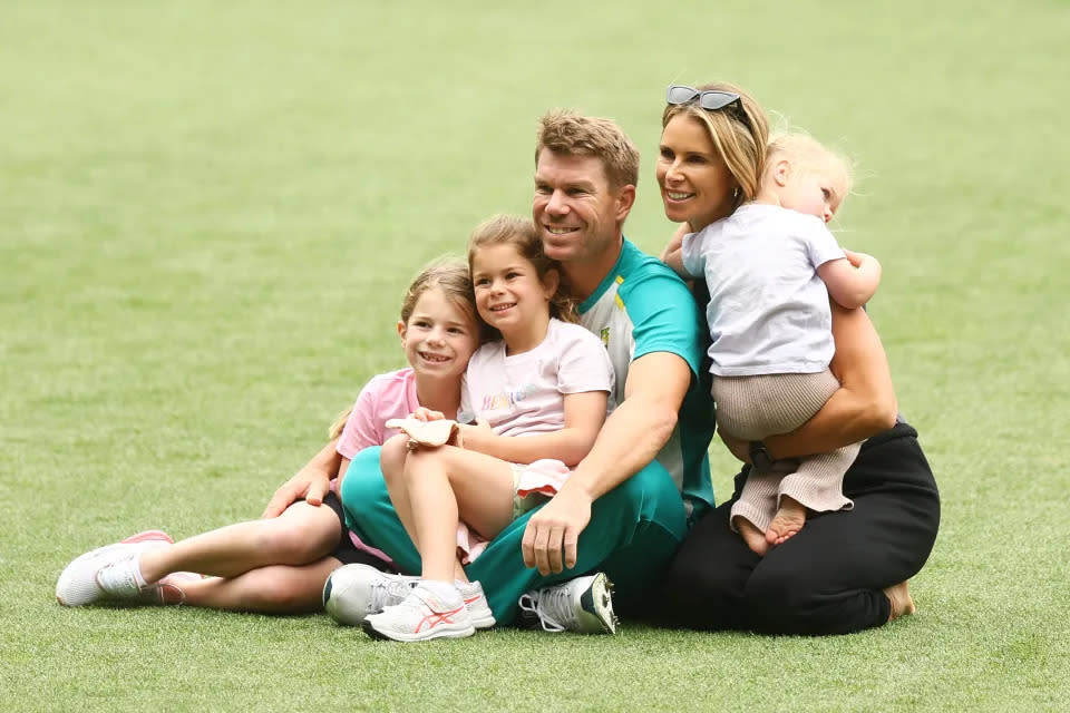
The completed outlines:
[[[1070,6],[512,4],[4,3],[0,710],[1066,710]],[[631,134],[656,251],[664,87],[712,79],[858,158],[839,236],[943,494],[916,616],[391,646],[55,603],[90,547],[259,516],[399,365],[411,274],[528,211],[546,109]]]

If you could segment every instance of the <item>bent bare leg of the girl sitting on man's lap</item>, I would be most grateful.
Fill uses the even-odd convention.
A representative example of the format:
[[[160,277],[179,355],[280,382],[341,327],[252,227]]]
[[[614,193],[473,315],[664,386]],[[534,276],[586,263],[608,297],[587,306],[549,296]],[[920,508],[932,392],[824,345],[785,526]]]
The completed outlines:
[[[490,538],[513,518],[513,468],[484,453],[454,446],[419,449],[405,467],[422,577],[440,582],[458,576],[457,522]]]

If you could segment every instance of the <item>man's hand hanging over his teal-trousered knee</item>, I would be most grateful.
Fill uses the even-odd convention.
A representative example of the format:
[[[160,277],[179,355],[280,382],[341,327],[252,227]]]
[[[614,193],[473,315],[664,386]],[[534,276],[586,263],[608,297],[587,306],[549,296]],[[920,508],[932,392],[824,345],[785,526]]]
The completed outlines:
[[[576,566],[580,533],[591,521],[591,498],[566,482],[549,502],[532,516],[521,549],[526,567],[538,567],[543,576]],[[564,559],[562,559],[564,553]],[[564,565],[564,567],[562,566]]]

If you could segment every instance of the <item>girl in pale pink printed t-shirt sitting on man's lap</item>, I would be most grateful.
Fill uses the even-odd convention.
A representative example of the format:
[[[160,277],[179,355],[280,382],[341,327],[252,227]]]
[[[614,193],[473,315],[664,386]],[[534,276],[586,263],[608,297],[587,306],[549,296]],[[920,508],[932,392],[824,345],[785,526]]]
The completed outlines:
[[[461,402],[475,424],[402,423],[407,434],[383,446],[390,499],[422,573],[405,599],[363,619],[378,638],[463,637],[483,628],[466,606],[481,589],[458,559],[458,545],[468,545],[459,543],[458,525],[489,540],[545,502],[590,451],[613,391],[605,346],[574,323],[556,263],[529,218],[498,216],[477,227],[468,264],[479,316],[500,339],[468,363]]]

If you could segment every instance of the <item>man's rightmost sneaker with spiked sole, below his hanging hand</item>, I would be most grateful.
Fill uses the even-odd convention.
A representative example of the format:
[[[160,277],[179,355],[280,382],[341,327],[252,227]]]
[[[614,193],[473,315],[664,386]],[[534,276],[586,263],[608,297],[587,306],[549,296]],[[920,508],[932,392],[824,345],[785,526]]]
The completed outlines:
[[[547,632],[614,634],[613,583],[604,573],[576,577],[521,596],[521,616],[538,618]]]

